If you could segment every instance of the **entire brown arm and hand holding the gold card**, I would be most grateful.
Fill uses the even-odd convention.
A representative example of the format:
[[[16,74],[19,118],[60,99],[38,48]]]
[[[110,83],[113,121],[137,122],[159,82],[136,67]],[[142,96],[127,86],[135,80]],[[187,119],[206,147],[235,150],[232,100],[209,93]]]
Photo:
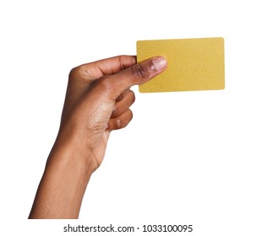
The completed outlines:
[[[167,67],[157,56],[115,56],[75,67],[68,78],[63,115],[29,218],[78,218],[91,174],[104,158],[111,131],[128,125],[130,90]]]

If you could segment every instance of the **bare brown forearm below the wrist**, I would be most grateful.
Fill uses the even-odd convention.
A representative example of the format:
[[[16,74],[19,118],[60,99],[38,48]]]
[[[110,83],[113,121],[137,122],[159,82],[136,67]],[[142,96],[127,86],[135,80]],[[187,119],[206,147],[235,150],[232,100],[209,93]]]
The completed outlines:
[[[92,171],[72,144],[55,145],[47,160],[30,218],[78,218]],[[86,153],[85,153],[86,155]]]

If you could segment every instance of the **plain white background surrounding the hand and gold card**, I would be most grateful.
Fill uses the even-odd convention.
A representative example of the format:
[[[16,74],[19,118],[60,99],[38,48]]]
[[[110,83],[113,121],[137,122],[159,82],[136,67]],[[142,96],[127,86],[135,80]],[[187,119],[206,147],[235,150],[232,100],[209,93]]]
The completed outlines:
[[[0,234],[69,235],[68,223],[112,223],[193,224],[193,233],[181,235],[255,235],[253,2],[1,0]],[[133,121],[112,133],[79,221],[26,220],[72,67],[135,55],[137,40],[215,36],[225,38],[225,90],[133,88]]]

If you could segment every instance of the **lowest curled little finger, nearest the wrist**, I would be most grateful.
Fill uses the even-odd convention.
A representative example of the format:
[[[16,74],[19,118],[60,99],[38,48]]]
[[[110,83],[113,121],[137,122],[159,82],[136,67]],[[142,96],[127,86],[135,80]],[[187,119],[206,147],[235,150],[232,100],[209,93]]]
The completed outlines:
[[[113,130],[119,130],[124,128],[128,125],[128,123],[133,119],[133,112],[132,110],[126,110],[123,112],[123,114],[111,118],[108,121],[108,127],[107,130],[113,131]]]

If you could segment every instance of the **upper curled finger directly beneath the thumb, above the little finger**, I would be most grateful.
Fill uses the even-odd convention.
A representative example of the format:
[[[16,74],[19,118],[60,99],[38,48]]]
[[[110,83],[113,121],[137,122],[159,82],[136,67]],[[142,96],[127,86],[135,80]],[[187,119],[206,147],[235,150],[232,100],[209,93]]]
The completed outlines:
[[[112,116],[111,118],[117,117],[125,110],[128,110],[128,108],[133,105],[133,102],[135,101],[135,95],[132,90],[128,90],[127,92],[121,94],[123,95],[123,98],[118,100],[113,108]],[[120,95],[120,96],[121,96]],[[120,98],[120,96],[118,98]]]

